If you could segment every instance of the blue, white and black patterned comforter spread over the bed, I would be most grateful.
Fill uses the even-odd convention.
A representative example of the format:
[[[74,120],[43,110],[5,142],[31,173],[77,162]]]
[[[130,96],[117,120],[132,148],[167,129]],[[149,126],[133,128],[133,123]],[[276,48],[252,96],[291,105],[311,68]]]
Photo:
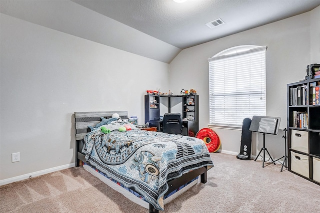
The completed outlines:
[[[82,153],[92,166],[134,188],[157,210],[163,210],[167,181],[213,166],[202,140],[139,129],[108,134],[93,130],[84,137]]]

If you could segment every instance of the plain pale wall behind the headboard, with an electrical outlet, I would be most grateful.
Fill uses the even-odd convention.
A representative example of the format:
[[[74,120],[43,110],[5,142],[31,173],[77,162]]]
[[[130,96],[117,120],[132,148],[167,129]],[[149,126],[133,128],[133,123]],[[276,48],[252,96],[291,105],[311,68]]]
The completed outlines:
[[[168,89],[167,63],[0,18],[2,181],[72,166],[74,112],[127,110],[142,124],[145,90]],[[15,152],[20,161],[11,163]]]

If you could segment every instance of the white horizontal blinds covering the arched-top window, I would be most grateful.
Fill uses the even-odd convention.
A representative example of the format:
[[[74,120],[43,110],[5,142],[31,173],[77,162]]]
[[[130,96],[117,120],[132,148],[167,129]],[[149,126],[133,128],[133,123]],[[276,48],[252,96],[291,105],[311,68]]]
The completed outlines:
[[[237,127],[244,118],[265,116],[265,51],[237,46],[208,59],[210,124]]]

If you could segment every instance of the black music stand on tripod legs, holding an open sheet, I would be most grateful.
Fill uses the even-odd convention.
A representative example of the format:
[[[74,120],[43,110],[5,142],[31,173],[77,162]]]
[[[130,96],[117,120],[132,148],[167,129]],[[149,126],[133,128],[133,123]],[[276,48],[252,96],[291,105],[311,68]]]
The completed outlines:
[[[271,134],[271,135],[277,135],[279,130],[281,118],[279,117],[269,117],[269,116],[253,116],[251,125],[249,128],[249,131],[251,132],[259,132],[263,134],[263,147],[261,148],[259,154],[256,155],[256,159],[260,156],[260,153],[262,153],[262,167],[264,168],[264,162],[265,162],[265,151],[268,153],[271,161],[275,165],[270,153],[265,148],[265,134]]]

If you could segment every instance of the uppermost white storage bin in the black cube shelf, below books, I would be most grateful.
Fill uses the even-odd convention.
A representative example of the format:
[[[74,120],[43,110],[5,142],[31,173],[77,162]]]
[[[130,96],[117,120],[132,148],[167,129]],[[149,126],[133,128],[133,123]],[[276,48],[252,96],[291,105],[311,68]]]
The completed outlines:
[[[291,130],[291,149],[308,153],[308,132]]]

